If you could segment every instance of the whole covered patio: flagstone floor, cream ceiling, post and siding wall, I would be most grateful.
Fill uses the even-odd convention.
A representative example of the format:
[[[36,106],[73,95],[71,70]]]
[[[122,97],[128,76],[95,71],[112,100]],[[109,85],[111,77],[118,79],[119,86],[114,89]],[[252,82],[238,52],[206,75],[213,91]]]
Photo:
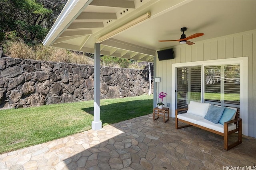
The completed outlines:
[[[0,169],[255,169],[255,9],[254,0],[69,0],[43,44],[94,53],[92,130],[2,154]],[[180,39],[182,27],[187,36],[204,35],[192,39],[194,45],[158,42]],[[170,48],[174,59],[159,61],[157,51]],[[100,55],[154,63],[154,77],[161,78],[154,82],[154,106],[158,92],[167,92],[170,120],[153,121],[149,114],[102,128]],[[242,144],[226,151],[219,135],[196,127],[175,129],[175,66],[230,64],[244,57]]]

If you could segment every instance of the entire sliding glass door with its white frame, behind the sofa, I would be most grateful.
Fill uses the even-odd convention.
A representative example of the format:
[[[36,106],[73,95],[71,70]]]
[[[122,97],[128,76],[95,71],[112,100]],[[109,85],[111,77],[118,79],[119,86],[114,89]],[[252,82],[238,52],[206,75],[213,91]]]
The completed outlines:
[[[239,108],[248,132],[248,57],[172,64],[172,117],[191,100]]]

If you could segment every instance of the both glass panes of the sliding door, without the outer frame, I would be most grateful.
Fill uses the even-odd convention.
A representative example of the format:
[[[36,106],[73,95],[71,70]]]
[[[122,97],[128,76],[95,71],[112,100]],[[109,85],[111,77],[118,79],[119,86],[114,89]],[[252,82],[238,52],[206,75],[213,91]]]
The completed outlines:
[[[240,65],[177,67],[176,108],[188,107],[191,100],[220,106],[239,107]]]

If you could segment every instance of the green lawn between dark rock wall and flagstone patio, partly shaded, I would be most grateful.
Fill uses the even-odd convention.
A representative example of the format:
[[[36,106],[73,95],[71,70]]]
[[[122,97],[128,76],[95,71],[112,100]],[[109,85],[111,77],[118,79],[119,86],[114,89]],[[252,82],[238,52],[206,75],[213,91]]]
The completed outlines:
[[[100,119],[108,125],[152,113],[153,95],[100,100]],[[0,110],[0,154],[87,131],[93,101]]]

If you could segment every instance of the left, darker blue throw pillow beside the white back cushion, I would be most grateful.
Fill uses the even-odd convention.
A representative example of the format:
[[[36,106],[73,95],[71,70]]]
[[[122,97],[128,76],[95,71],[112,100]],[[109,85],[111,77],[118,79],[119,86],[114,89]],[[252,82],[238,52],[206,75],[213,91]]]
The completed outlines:
[[[204,116],[204,119],[207,119],[208,121],[217,124],[220,121],[224,109],[224,106],[218,107],[211,104],[206,115]]]

